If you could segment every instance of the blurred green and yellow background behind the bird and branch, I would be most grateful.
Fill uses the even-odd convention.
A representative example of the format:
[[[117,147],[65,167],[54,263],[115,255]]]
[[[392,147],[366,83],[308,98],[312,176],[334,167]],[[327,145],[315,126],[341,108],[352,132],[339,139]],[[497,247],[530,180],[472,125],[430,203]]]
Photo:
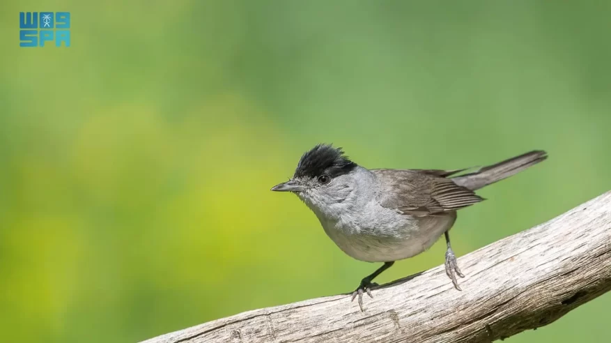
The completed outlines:
[[[19,47],[18,13],[43,10],[71,12],[72,47]],[[458,255],[610,190],[610,15],[610,1],[3,3],[3,342],[135,342],[352,291],[378,265],[270,192],[318,142],[371,168],[546,149],[461,211]],[[380,281],[443,256],[440,241]],[[610,306],[507,341],[603,342]]]

